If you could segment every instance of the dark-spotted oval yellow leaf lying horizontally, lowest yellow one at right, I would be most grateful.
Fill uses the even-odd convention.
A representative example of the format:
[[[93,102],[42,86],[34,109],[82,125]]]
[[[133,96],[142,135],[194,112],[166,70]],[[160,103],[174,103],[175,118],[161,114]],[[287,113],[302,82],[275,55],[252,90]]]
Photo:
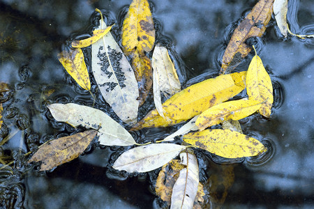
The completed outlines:
[[[183,140],[221,157],[251,157],[267,150],[260,141],[232,130],[203,130],[186,134]]]

